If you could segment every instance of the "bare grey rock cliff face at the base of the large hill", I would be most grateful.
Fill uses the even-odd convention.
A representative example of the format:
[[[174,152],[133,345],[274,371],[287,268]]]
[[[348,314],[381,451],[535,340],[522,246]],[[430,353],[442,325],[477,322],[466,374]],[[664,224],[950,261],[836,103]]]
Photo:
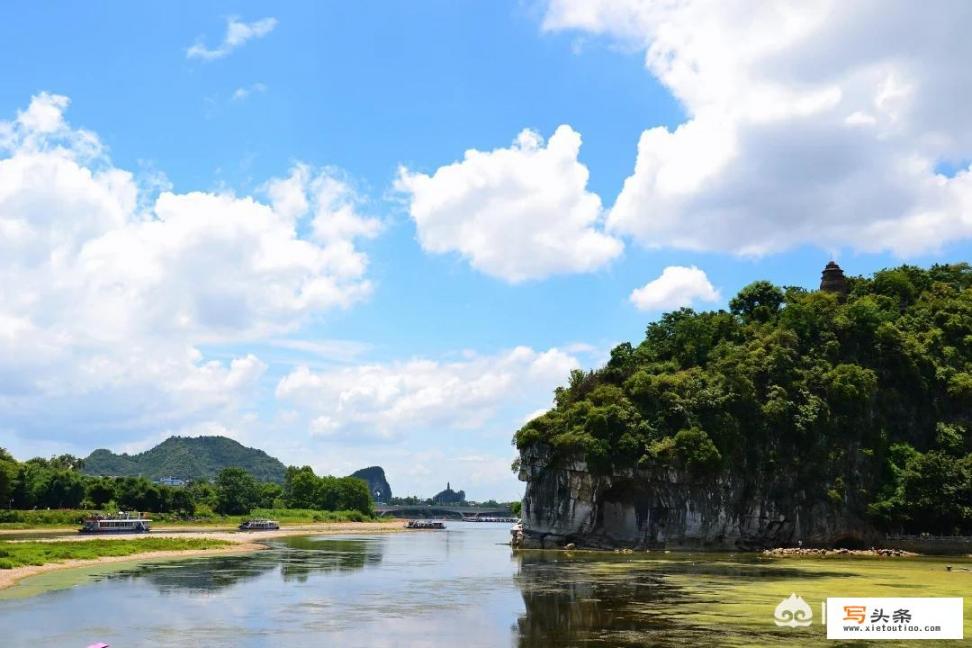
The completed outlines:
[[[719,475],[677,470],[597,475],[583,461],[554,463],[542,449],[521,452],[526,548],[755,550],[853,546],[879,536],[848,507],[807,503],[786,476]]]

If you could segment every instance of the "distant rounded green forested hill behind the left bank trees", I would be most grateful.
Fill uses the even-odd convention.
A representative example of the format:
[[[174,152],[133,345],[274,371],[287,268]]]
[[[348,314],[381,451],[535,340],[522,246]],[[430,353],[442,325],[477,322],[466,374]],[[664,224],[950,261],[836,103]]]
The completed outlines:
[[[286,466],[263,450],[222,436],[169,437],[151,450],[128,455],[95,450],[84,460],[89,475],[142,475],[212,480],[223,468],[246,469],[260,481],[283,483]]]

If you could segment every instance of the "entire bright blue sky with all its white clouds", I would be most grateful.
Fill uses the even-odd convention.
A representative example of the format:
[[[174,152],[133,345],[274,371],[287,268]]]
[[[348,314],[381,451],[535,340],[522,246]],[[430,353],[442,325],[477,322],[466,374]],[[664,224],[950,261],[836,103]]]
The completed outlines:
[[[3,444],[222,433],[514,498],[516,427],[660,312],[814,287],[832,255],[968,258],[969,118],[936,107],[964,105],[967,46],[907,5],[811,4],[4,4],[0,252],[24,256],[0,262]],[[91,177],[41,191],[48,168]],[[134,206],[107,181],[82,200],[106,171]],[[275,220],[288,178],[324,206]]]

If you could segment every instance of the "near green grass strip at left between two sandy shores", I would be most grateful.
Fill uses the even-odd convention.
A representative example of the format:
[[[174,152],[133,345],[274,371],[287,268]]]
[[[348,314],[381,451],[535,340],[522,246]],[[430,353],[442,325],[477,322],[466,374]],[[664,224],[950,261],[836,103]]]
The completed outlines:
[[[132,556],[150,551],[203,551],[229,546],[225,540],[201,538],[139,538],[87,542],[0,542],[0,569],[45,565],[64,560]]]

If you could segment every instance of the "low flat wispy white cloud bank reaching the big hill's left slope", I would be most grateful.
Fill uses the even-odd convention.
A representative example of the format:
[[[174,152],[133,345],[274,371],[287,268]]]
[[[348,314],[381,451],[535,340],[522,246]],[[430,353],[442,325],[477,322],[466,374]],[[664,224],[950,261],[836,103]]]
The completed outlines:
[[[556,348],[517,347],[453,362],[413,359],[316,372],[298,367],[280,381],[276,395],[301,410],[320,437],[385,440],[430,429],[447,435],[500,420],[509,433],[524,412],[549,405],[554,387],[579,366]]]

